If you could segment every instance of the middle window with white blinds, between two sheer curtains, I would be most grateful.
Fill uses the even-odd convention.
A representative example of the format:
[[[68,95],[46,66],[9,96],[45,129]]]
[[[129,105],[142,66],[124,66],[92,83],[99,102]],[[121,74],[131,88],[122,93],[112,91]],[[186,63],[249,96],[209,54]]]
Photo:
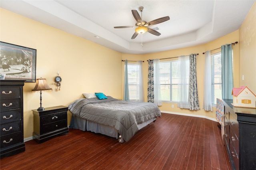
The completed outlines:
[[[189,61],[186,63],[189,68]],[[178,101],[178,60],[162,61],[160,68],[160,88],[162,101]],[[189,69],[187,69],[189,77]],[[187,80],[189,82],[189,80]]]

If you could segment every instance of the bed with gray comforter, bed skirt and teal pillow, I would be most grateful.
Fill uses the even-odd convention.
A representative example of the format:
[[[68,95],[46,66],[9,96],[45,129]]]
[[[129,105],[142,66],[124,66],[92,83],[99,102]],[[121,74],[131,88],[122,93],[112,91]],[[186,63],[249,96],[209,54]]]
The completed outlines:
[[[72,113],[69,128],[105,134],[119,142],[129,141],[138,130],[161,117],[154,103],[122,101],[111,96],[78,99],[68,109]]]

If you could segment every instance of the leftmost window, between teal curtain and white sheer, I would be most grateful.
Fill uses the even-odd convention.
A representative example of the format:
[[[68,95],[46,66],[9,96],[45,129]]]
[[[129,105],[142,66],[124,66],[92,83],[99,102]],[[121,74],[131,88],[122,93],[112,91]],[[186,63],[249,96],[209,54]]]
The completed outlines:
[[[134,63],[128,63],[128,87],[130,101],[139,99],[140,94],[140,66]]]

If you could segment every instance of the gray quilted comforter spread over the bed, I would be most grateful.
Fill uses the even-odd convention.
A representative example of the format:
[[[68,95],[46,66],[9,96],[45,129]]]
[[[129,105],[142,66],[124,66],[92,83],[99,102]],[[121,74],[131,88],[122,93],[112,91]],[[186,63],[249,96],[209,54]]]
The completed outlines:
[[[154,103],[121,101],[108,99],[78,99],[68,106],[70,112],[78,117],[96,123],[115,127],[127,142],[138,131],[138,124],[154,117],[161,117]]]

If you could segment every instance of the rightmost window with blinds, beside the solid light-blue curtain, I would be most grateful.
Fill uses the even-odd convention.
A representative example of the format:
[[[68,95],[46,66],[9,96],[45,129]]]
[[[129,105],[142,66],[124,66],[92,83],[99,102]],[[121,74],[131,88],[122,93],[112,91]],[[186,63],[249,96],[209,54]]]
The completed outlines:
[[[216,99],[222,99],[221,80],[221,52],[211,55],[212,57],[212,105],[216,106]]]

